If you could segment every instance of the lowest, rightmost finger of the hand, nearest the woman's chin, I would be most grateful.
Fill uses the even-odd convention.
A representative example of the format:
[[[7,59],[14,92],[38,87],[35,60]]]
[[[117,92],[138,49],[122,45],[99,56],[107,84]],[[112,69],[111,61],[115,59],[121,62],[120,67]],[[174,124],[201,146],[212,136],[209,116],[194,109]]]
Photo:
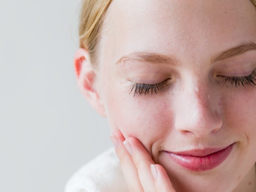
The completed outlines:
[[[157,192],[175,192],[165,169],[161,165],[152,164],[151,173],[154,177]]]

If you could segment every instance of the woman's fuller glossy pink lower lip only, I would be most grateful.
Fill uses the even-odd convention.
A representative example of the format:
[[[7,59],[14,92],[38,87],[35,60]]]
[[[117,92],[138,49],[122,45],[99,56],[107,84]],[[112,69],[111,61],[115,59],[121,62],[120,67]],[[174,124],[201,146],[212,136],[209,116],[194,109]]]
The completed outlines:
[[[221,164],[231,153],[233,144],[229,145],[223,150],[211,153],[207,156],[197,157],[188,155],[178,155],[171,152],[167,152],[168,157],[175,163],[181,165],[190,171],[206,171],[213,169],[214,167]]]

